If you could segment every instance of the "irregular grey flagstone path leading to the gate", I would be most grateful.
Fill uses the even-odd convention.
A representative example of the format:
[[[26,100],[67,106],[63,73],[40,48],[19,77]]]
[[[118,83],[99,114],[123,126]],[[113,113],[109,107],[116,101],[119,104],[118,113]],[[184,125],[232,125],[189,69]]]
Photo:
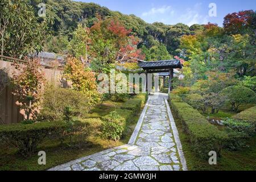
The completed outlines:
[[[187,170],[167,94],[150,96],[129,144],[98,152],[50,171]]]

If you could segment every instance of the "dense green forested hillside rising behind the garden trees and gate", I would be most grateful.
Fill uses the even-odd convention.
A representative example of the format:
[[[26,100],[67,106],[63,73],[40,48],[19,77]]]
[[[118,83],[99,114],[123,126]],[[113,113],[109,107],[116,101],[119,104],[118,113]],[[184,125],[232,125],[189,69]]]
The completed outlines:
[[[32,1],[36,13],[38,13],[39,8],[37,5],[40,2],[38,0]],[[176,25],[165,25],[157,22],[148,24],[135,15],[124,15],[94,3],[73,2],[69,0],[49,0],[45,1],[45,3],[47,5],[48,26],[52,27],[52,35],[54,36],[47,48],[48,51],[54,52],[59,52],[65,48],[67,40],[72,38],[72,32],[79,23],[85,24],[86,27],[90,28],[97,21],[96,17],[99,16],[102,19],[118,19],[127,30],[132,30],[133,35],[141,38],[142,41],[139,43],[139,47],[145,46],[143,47],[143,52],[152,53],[152,56],[147,56],[148,60],[168,59],[171,57],[170,55],[179,55],[181,36],[195,34],[197,30],[204,29],[203,26],[198,24],[191,27],[182,23]],[[63,44],[59,43],[56,47],[55,42]]]

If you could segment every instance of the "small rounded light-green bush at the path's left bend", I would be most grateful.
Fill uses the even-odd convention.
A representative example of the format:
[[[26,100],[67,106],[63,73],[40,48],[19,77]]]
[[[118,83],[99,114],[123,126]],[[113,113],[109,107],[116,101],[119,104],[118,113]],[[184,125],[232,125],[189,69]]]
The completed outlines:
[[[102,136],[106,139],[119,140],[125,131],[125,118],[122,118],[116,111],[112,111],[103,119]]]

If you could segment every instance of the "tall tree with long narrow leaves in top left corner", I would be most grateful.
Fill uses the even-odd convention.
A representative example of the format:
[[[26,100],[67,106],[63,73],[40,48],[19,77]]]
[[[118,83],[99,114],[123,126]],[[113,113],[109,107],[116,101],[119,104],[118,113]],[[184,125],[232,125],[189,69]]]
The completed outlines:
[[[47,26],[37,20],[30,1],[1,1],[1,55],[21,58],[42,51]]]

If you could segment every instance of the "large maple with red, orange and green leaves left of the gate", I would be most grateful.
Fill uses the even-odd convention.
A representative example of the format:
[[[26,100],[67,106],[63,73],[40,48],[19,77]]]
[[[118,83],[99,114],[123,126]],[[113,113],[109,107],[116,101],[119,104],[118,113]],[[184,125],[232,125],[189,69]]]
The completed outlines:
[[[140,39],[131,34],[118,20],[98,18],[90,28],[90,56],[100,65],[134,62],[143,59],[137,49]]]

